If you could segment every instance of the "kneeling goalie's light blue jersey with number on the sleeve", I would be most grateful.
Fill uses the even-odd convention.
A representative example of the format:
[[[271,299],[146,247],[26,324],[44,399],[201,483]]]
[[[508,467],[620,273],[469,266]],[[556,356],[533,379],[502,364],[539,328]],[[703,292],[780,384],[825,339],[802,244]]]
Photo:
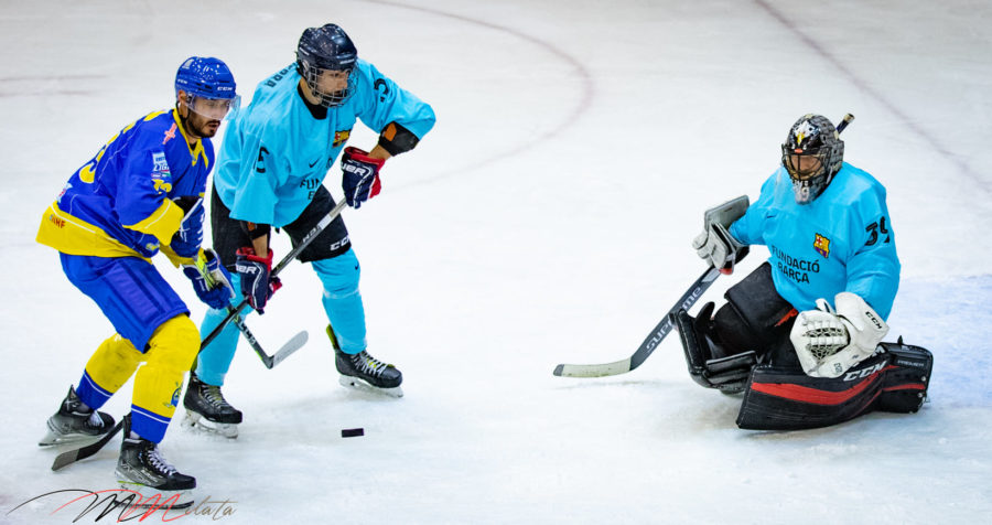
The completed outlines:
[[[815,309],[819,298],[832,304],[850,291],[888,318],[899,258],[885,188],[867,172],[845,162],[819,197],[798,204],[779,167],[730,233],[743,244],[768,246],[775,289],[797,310]]]

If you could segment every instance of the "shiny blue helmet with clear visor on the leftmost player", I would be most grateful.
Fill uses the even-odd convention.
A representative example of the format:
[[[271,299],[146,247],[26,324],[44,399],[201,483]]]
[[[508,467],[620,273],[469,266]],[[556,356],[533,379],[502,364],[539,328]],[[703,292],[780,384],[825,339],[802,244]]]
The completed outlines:
[[[240,97],[227,64],[219,58],[191,56],[175,72],[175,93],[184,92],[183,100],[191,110],[211,119],[222,119],[237,109]]]

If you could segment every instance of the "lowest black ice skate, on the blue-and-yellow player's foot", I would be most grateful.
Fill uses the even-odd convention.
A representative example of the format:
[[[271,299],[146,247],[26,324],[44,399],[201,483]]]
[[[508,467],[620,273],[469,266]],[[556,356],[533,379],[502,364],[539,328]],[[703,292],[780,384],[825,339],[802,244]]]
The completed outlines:
[[[169,464],[159,446],[143,438],[131,437],[131,415],[125,416],[123,440],[120,458],[117,460],[117,481],[123,489],[141,494],[143,501],[154,504],[157,495],[162,503],[172,500],[172,508],[182,508],[193,503],[192,491],[196,479],[182,474]],[[174,497],[179,494],[179,497]]]

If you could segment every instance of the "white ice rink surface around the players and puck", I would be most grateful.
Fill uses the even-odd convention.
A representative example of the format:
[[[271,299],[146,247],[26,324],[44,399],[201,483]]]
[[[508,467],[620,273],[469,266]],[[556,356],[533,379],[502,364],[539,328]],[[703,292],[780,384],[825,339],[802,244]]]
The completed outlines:
[[[72,523],[78,504],[54,512],[65,496],[11,510],[114,488],[117,441],[58,473],[35,446],[112,333],[34,243],[42,211],[125,124],[171,105],[186,56],[225,60],[247,98],[326,21],[439,117],[345,212],[369,350],[400,366],[406,397],[337,385],[319,281],[288,269],[248,322],[271,350],[303,329],[311,342],[272,371],[241,345],[225,386],[246,414],[237,440],[173,425],[162,444],[202,499],[230,502],[222,523],[988,518],[990,2],[0,0],[0,522]],[[932,351],[931,401],[738,430],[740,399],[692,383],[677,338],[625,376],[552,377],[637,347],[702,269],[688,246],[702,211],[755,197],[807,111],[853,113],[845,159],[888,188],[892,336]],[[365,437],[339,437],[353,427]]]

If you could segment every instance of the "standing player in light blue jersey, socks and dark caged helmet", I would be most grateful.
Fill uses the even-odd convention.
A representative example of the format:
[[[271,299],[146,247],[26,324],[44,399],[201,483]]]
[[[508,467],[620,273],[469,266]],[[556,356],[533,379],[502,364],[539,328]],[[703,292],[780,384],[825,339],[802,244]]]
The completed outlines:
[[[434,125],[434,113],[375,66],[358,58],[351,38],[335,24],[310,28],[296,62],[262,81],[251,105],[235,116],[218,154],[211,219],[214,248],[233,271],[236,291],[259,313],[279,288],[270,279],[269,238],[282,228],[296,245],[334,207],[323,181],[341,157],[342,189],[358,208],[381,185],[386,159],[413,149]],[[357,121],[379,133],[369,152],[345,147]],[[338,216],[300,255],[323,285],[323,307],[335,364],[346,386],[401,395],[402,375],[366,351],[358,291],[359,265]],[[201,326],[209,334],[225,318],[212,310]],[[184,398],[188,421],[237,436],[241,413],[220,395],[238,343],[227,325],[200,354]]]

